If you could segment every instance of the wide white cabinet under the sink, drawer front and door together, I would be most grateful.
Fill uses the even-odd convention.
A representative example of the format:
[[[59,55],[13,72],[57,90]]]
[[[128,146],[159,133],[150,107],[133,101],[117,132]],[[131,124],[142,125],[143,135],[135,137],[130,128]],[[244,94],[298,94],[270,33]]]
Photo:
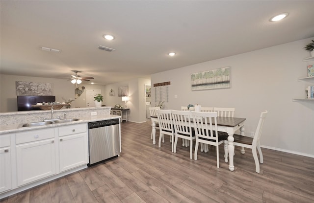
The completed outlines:
[[[56,173],[54,129],[16,134],[18,186]]]

